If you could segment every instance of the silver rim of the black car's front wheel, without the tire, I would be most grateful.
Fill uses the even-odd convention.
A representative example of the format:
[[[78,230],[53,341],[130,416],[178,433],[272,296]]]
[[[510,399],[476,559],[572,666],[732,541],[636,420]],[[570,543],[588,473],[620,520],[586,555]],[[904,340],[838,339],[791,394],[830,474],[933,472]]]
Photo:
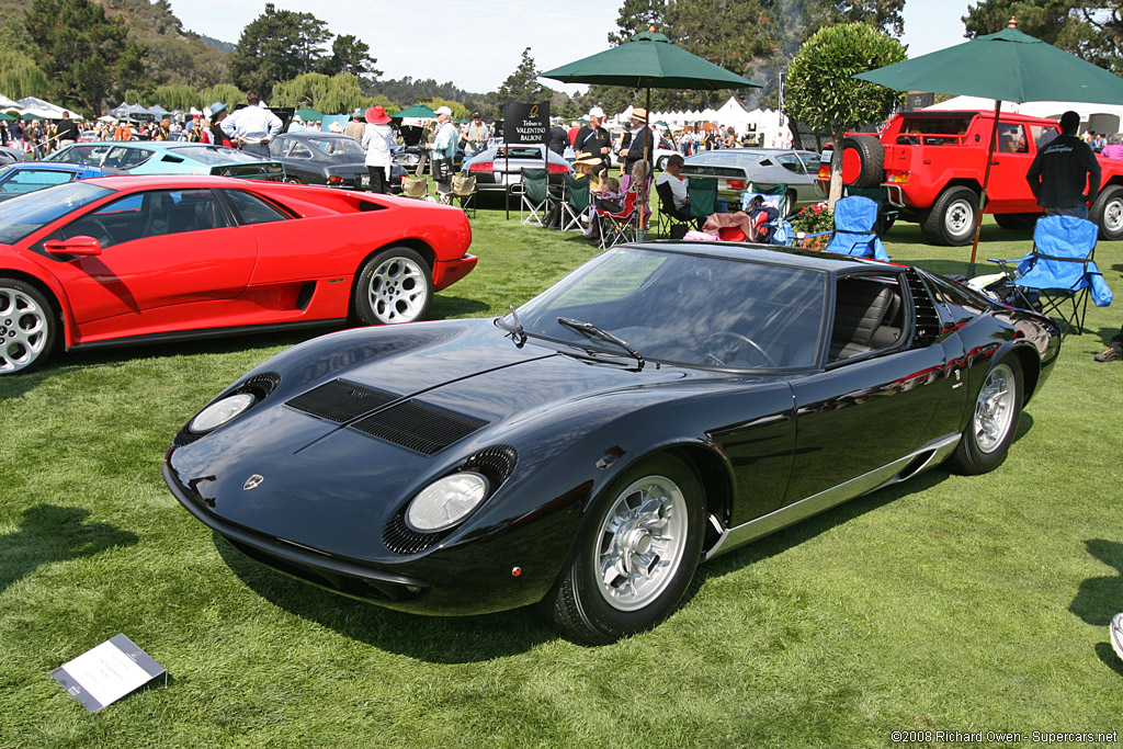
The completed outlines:
[[[597,590],[610,606],[636,611],[659,597],[683,561],[686,499],[666,476],[645,476],[622,491],[596,535]]]

